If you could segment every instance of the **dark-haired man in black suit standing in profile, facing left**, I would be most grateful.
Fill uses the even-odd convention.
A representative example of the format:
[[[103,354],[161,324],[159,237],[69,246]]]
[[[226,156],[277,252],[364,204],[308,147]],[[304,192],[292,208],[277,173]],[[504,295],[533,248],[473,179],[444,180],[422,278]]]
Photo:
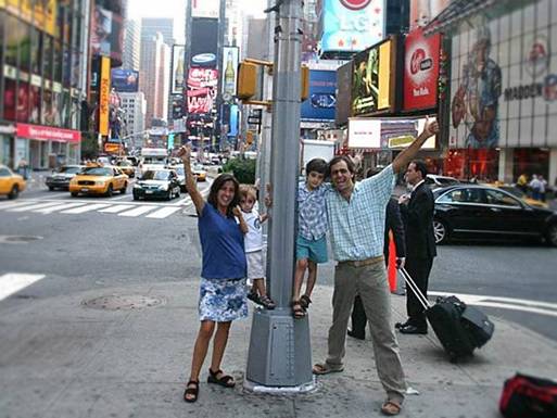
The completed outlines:
[[[408,164],[405,178],[413,190],[409,197],[406,194],[398,199],[406,231],[406,270],[426,297],[429,274],[436,255],[433,235],[434,202],[433,193],[425,182],[427,174],[423,162],[413,161]],[[406,292],[406,311],[408,319],[404,324],[397,322],[395,328],[407,334],[428,333],[423,306],[412,291]]]

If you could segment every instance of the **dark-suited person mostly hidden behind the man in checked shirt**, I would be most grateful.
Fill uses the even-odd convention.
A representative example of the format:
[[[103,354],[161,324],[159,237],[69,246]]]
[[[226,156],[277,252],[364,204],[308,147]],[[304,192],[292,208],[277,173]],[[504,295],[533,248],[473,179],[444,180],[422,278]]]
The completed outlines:
[[[366,177],[371,177],[381,172],[381,169],[370,168]],[[404,226],[398,208],[398,202],[391,199],[387,204],[387,216],[384,227],[384,263],[389,264],[389,231],[393,232],[394,244],[396,246],[396,267],[404,267],[404,257],[406,256],[406,243],[404,240]],[[366,339],[367,316],[362,304],[362,299],[356,295],[354,299],[354,307],[352,308],[352,329],[347,334],[358,340]]]

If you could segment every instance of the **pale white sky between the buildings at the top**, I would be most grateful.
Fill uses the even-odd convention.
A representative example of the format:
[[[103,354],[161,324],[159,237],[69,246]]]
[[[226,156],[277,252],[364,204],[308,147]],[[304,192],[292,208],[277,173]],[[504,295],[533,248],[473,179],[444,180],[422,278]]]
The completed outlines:
[[[140,21],[141,17],[174,17],[174,37],[178,43],[183,42],[187,0],[128,0],[128,18]],[[201,0],[202,1],[202,0]],[[242,9],[258,11],[267,4],[267,0],[237,0]]]

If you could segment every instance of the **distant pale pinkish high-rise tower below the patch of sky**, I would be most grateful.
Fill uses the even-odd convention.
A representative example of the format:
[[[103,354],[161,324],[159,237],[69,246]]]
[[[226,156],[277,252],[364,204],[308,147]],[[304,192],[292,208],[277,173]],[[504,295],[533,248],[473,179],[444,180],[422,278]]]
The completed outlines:
[[[141,39],[139,91],[147,100],[145,126],[151,127],[153,118],[166,119],[168,114],[170,49],[164,43],[163,35]]]

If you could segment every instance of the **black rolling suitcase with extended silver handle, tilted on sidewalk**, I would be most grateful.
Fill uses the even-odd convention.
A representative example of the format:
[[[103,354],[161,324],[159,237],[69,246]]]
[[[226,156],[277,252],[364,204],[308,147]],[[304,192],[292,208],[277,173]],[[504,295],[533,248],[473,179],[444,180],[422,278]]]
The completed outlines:
[[[440,296],[431,305],[408,273],[404,268],[400,271],[407,287],[426,309],[426,316],[451,362],[471,356],[476,349],[489,341],[494,326],[481,311],[466,306],[456,296]]]

